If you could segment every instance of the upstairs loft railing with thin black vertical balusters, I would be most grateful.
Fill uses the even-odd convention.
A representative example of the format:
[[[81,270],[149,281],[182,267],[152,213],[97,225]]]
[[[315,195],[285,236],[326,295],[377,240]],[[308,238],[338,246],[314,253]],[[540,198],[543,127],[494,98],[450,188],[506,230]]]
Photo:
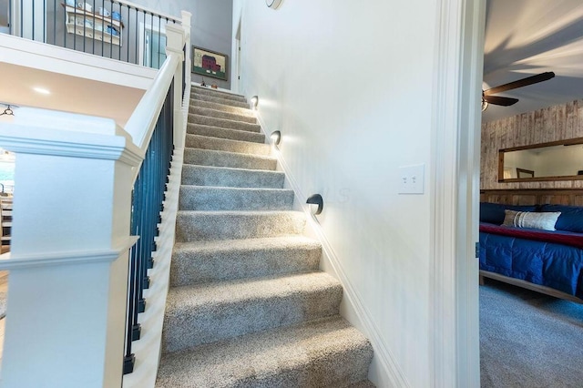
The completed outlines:
[[[10,35],[153,68],[166,59],[165,26],[181,23],[125,0],[9,0],[7,12]]]

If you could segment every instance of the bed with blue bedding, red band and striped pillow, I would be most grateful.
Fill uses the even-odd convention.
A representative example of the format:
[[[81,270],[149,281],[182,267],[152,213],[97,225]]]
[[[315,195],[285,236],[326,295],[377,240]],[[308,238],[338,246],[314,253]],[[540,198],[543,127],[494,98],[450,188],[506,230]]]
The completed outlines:
[[[542,221],[533,228],[519,218]],[[480,283],[491,278],[583,303],[583,190],[482,190],[479,263]]]

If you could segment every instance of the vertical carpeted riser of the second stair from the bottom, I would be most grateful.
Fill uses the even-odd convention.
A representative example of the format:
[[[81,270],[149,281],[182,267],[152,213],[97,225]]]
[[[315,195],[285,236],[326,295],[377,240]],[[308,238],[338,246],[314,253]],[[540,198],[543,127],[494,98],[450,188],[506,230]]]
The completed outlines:
[[[338,313],[342,297],[342,286],[336,284],[279,299],[258,298],[232,301],[228,305],[199,306],[176,315],[167,311],[164,350],[177,352],[203,343],[332,316]]]

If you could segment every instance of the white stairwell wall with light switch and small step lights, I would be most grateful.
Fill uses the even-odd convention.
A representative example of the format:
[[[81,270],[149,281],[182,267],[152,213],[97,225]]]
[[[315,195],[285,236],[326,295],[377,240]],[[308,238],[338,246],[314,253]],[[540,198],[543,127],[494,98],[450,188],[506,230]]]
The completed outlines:
[[[375,362],[384,349],[409,386],[429,386],[430,198],[397,184],[418,163],[430,179],[435,2],[233,9],[242,91],[281,130],[302,193],[324,198],[322,231],[380,338]]]

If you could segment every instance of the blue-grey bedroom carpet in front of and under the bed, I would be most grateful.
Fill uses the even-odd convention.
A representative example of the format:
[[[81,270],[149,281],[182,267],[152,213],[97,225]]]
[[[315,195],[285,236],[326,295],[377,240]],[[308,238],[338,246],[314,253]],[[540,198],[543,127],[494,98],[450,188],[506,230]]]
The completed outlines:
[[[486,279],[480,286],[483,388],[583,386],[583,305]]]

